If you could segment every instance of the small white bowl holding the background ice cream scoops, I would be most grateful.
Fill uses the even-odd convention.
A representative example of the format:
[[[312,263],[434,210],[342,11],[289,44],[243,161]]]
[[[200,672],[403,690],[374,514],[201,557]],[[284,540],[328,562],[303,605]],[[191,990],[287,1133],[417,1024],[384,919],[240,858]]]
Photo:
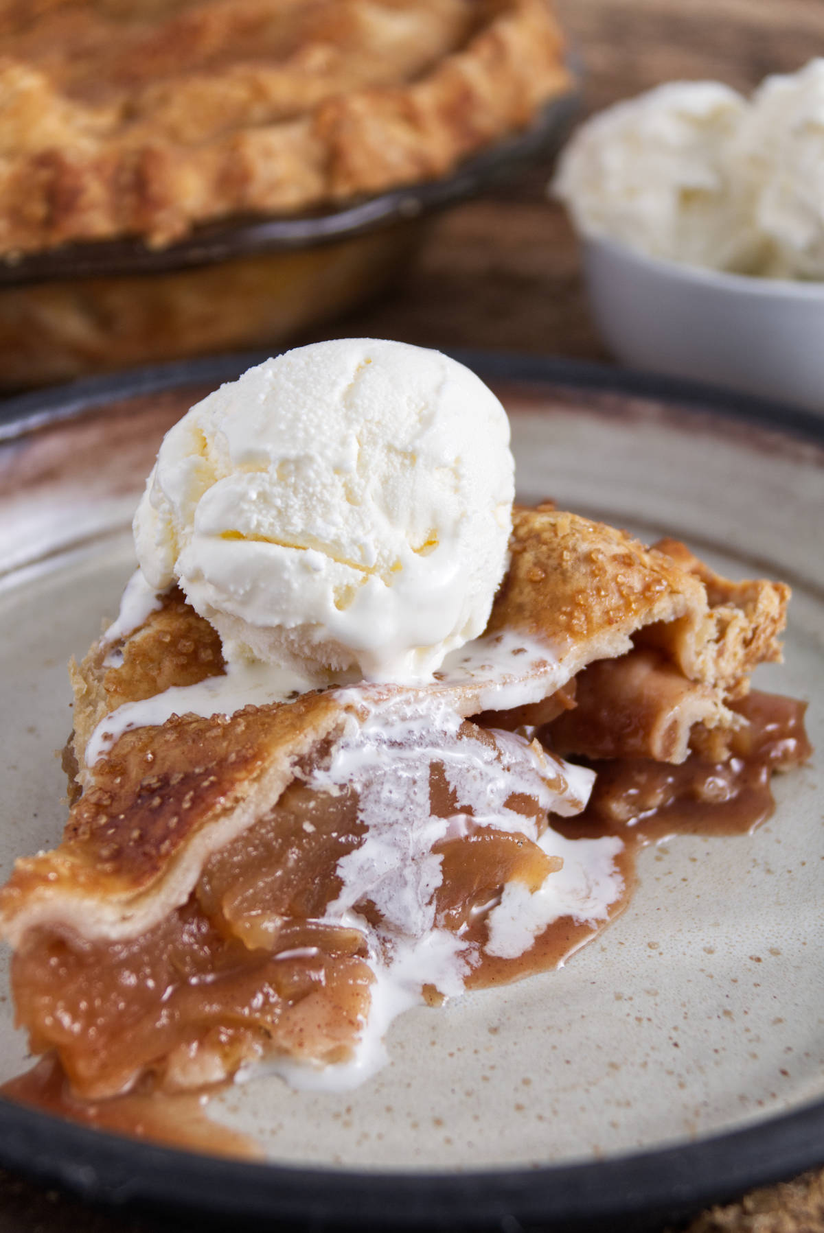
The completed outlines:
[[[583,237],[592,313],[625,364],[824,412],[824,282],[720,274]]]

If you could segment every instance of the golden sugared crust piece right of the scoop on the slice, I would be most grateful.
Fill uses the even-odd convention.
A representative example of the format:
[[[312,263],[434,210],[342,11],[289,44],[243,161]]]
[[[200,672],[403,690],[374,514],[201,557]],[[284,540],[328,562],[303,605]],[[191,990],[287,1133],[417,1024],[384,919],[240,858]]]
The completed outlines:
[[[782,582],[730,582],[676,540],[648,549],[553,504],[516,509],[511,546],[490,630],[546,637],[572,658],[587,647],[580,667],[633,644],[655,647],[722,702],[746,693],[757,663],[781,660]]]

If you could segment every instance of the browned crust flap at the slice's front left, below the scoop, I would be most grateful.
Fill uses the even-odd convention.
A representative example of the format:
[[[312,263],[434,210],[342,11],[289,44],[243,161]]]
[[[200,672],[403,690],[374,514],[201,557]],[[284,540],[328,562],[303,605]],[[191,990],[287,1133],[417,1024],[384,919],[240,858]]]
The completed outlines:
[[[212,852],[271,809],[295,761],[343,718],[332,694],[307,694],[125,732],[95,764],[59,848],[16,862],[0,891],[6,936],[56,916],[86,936],[143,932],[185,901]]]

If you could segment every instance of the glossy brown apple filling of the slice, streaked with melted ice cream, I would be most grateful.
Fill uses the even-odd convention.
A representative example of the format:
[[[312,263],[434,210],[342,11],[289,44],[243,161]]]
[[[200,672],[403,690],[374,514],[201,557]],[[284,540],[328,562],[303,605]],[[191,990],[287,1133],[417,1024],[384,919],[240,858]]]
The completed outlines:
[[[12,984],[31,1047],[57,1049],[91,1099],[147,1074],[167,1091],[207,1086],[264,1057],[292,1081],[311,1081],[306,1064],[359,1081],[384,1060],[387,1017],[422,986],[438,1001],[519,979],[592,937],[624,906],[639,843],[768,816],[771,772],[810,752],[804,708],[755,693],[736,710],[748,726],[724,762],[593,762],[583,813],[586,772],[549,751],[553,724],[537,747],[449,713],[395,730],[381,716],[371,747],[366,726],[321,763],[303,760],[149,932],[30,931]],[[370,1031],[373,1002],[384,1005]]]

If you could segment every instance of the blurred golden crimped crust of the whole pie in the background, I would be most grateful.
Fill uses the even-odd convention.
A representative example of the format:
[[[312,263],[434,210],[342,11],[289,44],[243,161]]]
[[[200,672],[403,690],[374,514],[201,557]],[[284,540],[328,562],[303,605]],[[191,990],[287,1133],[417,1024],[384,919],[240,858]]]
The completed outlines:
[[[0,0],[0,254],[433,179],[569,85],[549,0]]]

